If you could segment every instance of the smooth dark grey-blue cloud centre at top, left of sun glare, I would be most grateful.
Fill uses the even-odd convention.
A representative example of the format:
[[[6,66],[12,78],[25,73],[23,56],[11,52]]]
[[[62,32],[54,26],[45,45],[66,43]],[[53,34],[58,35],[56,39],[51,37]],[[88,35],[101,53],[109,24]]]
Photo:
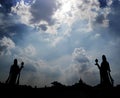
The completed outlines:
[[[31,22],[39,23],[41,20],[44,20],[52,24],[51,18],[56,8],[56,0],[36,0],[30,10],[33,16]]]

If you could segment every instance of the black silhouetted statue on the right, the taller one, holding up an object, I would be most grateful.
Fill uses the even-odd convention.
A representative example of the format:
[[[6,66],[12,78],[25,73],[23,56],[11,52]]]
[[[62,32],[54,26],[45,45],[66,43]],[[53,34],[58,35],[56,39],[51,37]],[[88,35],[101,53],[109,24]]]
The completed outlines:
[[[109,63],[107,62],[106,56],[102,55],[101,66],[98,64],[98,59],[95,60],[96,64],[100,70],[100,83],[103,86],[113,86],[113,79],[111,77],[111,70]]]

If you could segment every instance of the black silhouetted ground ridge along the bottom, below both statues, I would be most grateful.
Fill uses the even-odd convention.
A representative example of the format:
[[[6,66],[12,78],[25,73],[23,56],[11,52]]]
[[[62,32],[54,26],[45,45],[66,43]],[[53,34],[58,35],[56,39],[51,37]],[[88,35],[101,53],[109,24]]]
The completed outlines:
[[[55,81],[51,87],[31,87],[27,85],[15,85],[0,83],[1,98],[120,98],[120,86],[101,87],[89,86],[79,82],[72,86],[65,86]]]

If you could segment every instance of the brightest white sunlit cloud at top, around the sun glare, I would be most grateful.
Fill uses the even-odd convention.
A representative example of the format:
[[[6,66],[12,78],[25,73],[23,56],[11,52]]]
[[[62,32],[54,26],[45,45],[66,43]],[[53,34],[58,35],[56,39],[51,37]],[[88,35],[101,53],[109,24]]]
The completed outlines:
[[[79,20],[87,20],[88,27],[90,27],[91,25],[89,24],[95,20],[99,10],[96,0],[62,0],[59,3],[61,6],[53,17],[57,20],[59,26],[66,24],[68,25],[68,29],[72,27],[73,23]]]

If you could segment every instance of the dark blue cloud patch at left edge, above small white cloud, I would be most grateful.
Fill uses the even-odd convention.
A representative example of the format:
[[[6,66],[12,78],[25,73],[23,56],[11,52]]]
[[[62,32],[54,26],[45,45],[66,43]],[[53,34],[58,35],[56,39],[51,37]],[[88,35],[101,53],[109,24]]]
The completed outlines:
[[[14,20],[9,20],[9,16],[8,18],[6,18],[5,21],[6,23],[0,23],[0,38],[7,36],[12,38],[15,42],[17,42],[21,40],[29,31],[29,27],[27,27],[26,25],[21,23],[14,23]]]

